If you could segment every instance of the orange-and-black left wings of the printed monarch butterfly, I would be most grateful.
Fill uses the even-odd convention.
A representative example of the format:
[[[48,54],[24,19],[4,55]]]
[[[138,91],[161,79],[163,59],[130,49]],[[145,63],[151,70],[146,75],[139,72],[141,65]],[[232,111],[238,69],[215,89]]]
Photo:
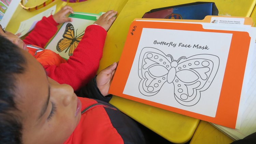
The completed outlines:
[[[66,25],[65,32],[62,35],[63,38],[59,40],[59,42],[57,43],[57,46],[56,46],[57,51],[62,52],[64,49],[69,48],[73,44],[72,40],[75,38],[74,35],[75,35],[74,26],[68,23]]]

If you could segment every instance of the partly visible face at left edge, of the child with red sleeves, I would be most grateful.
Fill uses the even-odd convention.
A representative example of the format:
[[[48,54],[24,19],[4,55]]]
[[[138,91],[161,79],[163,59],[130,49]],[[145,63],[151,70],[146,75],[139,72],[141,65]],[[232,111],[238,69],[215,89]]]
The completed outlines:
[[[0,35],[4,36],[6,39],[8,39],[12,43],[16,44],[19,48],[28,51],[27,45],[19,37],[17,37],[17,35],[3,30],[1,25],[0,25]]]

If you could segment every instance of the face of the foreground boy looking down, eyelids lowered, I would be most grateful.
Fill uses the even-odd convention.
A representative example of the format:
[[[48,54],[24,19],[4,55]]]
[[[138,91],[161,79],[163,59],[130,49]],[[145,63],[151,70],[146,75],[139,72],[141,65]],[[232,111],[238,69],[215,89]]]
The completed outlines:
[[[71,135],[81,118],[81,102],[73,88],[49,78],[30,54],[28,66],[17,75],[15,102],[21,111],[23,143],[59,144]]]

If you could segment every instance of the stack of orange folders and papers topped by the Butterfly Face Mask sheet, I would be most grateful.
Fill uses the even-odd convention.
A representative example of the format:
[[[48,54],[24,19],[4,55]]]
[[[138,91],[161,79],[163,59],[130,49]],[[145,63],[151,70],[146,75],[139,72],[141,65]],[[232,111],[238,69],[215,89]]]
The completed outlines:
[[[109,93],[240,128],[255,29],[247,18],[207,20],[135,19]]]

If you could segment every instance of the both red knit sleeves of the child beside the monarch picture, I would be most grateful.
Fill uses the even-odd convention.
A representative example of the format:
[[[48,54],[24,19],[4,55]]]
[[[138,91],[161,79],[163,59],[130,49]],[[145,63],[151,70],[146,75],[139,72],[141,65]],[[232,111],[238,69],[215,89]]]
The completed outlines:
[[[44,47],[57,31],[53,16],[43,17],[23,40],[26,44]],[[88,83],[99,68],[106,31],[97,25],[86,28],[84,36],[66,63],[59,66],[43,65],[48,76],[60,84],[69,84],[76,91]]]

